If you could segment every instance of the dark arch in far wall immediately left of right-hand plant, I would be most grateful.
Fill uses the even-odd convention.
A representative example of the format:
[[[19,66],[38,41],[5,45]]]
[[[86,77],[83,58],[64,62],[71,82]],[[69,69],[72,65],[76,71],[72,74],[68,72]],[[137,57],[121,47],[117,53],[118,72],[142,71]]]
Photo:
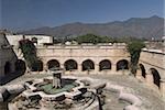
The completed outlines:
[[[127,59],[121,59],[117,63],[117,70],[129,69],[129,62]]]

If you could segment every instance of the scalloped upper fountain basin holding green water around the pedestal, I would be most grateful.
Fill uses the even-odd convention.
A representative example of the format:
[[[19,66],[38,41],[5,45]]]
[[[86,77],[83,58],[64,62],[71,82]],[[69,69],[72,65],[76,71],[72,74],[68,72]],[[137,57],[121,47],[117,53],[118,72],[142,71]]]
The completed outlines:
[[[62,78],[62,88],[54,88],[52,81],[50,77],[26,81],[25,87],[29,89],[23,95],[26,98],[40,95],[45,101],[61,101],[66,98],[76,100],[85,94],[84,84],[77,79]]]

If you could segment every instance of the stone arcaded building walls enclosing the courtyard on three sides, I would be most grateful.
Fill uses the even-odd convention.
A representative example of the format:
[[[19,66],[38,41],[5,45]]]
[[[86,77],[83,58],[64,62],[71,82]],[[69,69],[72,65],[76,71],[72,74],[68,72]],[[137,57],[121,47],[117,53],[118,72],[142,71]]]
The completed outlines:
[[[32,35],[33,36],[33,35]],[[13,40],[10,40],[12,37]],[[44,37],[44,36],[43,36]],[[45,36],[47,37],[47,36]],[[50,37],[50,36],[48,36]],[[9,42],[19,42],[11,35]],[[163,37],[164,40],[165,37]],[[40,38],[37,37],[40,41]],[[44,38],[43,38],[44,40]],[[51,38],[47,38],[51,40]],[[43,44],[44,41],[41,41]],[[47,41],[51,43],[52,41]],[[14,43],[15,44],[15,43]],[[148,84],[165,99],[165,44],[163,48],[143,48],[139,59],[136,78]],[[130,75],[130,54],[124,43],[108,44],[56,44],[36,45],[41,59],[41,73],[50,68],[63,68],[65,74]],[[16,52],[16,51],[15,51]],[[19,51],[18,51],[19,52]],[[20,57],[18,54],[19,58]],[[12,75],[16,67],[16,56],[6,35],[0,37],[0,78]],[[20,68],[20,67],[19,67]],[[19,69],[16,68],[16,69]],[[16,70],[18,72],[18,70]]]

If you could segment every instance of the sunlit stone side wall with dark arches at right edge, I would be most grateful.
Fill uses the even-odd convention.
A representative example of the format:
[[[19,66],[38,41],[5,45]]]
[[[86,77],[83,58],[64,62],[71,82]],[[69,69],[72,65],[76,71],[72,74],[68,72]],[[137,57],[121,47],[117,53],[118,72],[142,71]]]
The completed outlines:
[[[140,67],[136,77],[161,92],[165,100],[165,53],[161,50],[143,48],[139,64],[143,65],[143,68]]]

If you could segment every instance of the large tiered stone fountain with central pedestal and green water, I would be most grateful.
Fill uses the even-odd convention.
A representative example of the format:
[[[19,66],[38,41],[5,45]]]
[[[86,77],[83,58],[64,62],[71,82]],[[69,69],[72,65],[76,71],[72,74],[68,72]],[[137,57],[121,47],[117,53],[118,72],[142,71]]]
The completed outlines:
[[[94,92],[105,85],[91,89],[88,82],[75,77],[63,77],[62,69],[52,69],[52,77],[25,81],[25,90],[10,102],[11,110],[28,109],[78,109],[85,110],[96,102]],[[99,94],[101,95],[101,94]]]

